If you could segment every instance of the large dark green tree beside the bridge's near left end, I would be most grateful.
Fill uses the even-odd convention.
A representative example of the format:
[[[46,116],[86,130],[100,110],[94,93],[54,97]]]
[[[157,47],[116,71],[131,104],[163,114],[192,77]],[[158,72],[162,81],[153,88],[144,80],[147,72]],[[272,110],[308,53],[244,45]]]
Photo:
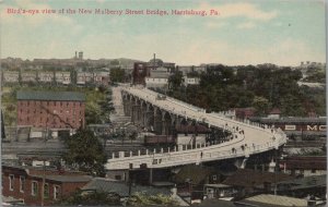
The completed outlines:
[[[107,156],[92,131],[79,129],[74,135],[65,139],[65,145],[68,149],[63,155],[67,165],[92,175],[105,175]]]

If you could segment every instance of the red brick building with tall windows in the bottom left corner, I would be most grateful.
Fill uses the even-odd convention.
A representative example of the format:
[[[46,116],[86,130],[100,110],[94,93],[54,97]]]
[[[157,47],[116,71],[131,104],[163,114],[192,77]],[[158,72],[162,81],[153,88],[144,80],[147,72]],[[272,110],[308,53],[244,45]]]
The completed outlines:
[[[27,206],[40,206],[44,199],[44,205],[48,206],[82,188],[91,179],[82,172],[2,166],[2,196]]]

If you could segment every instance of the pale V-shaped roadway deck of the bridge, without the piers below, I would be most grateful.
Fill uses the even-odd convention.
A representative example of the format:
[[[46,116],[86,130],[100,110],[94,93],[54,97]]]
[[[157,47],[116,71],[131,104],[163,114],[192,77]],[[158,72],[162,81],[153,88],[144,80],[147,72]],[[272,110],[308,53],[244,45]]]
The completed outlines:
[[[219,144],[197,145],[192,149],[175,147],[174,150],[161,149],[147,151],[145,155],[139,150],[137,155],[130,151],[130,155],[126,155],[127,157],[120,153],[118,157],[113,156],[107,160],[106,169],[108,170],[129,169],[130,163],[133,169],[138,169],[142,163],[145,163],[148,168],[166,168],[230,158],[246,160],[253,154],[278,149],[286,143],[286,136],[280,129],[239,122],[220,113],[206,113],[206,110],[201,108],[169,97],[159,100],[159,94],[147,88],[122,87],[121,90],[169,113],[230,131],[233,138]]]

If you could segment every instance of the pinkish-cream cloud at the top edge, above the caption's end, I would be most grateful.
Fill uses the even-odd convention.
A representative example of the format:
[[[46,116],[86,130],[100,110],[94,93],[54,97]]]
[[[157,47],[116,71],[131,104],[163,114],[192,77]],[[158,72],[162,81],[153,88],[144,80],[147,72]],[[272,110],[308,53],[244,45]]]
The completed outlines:
[[[216,10],[222,19],[241,16],[249,20],[269,21],[278,15],[277,11],[263,11],[253,3],[227,3],[222,5],[200,3],[199,10]]]

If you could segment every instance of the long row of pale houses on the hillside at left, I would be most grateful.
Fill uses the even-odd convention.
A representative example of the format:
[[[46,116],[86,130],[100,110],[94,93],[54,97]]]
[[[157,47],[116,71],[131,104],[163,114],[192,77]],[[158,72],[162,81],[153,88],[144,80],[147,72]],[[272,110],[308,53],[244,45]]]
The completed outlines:
[[[60,84],[60,85],[108,85],[109,70],[101,71],[3,71],[2,83],[5,84]]]

